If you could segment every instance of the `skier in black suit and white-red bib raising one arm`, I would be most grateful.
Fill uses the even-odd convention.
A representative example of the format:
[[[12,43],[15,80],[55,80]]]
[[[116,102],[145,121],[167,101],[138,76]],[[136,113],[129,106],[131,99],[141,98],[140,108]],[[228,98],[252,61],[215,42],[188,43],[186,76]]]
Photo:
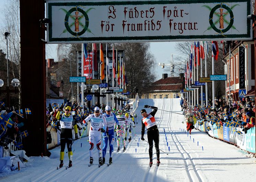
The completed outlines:
[[[151,113],[147,114],[145,109],[141,109],[140,113],[143,116],[141,120],[141,140],[145,140],[144,133],[145,133],[145,126],[147,127],[148,133],[148,142],[149,142],[149,165],[152,166],[153,164],[153,141],[155,143],[155,150],[156,150],[156,163],[160,164],[160,151],[159,151],[159,131],[156,126],[155,122],[155,113],[157,112],[158,108],[154,106],[144,105],[144,108],[152,108]]]

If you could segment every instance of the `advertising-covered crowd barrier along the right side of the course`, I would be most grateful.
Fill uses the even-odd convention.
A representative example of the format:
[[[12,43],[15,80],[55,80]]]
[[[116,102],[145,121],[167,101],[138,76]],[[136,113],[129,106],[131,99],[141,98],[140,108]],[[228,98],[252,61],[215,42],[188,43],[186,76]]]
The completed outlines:
[[[239,146],[242,150],[249,153],[256,153],[255,126],[247,130],[245,134],[242,128],[220,126],[220,128],[217,129],[216,124],[211,125],[210,122],[205,121],[203,125],[200,126],[199,124],[201,122],[202,120],[197,120],[195,129],[206,132],[213,138]],[[210,126],[211,129],[209,131],[207,129],[208,126]],[[234,132],[234,130],[241,131],[242,134],[238,134]]]

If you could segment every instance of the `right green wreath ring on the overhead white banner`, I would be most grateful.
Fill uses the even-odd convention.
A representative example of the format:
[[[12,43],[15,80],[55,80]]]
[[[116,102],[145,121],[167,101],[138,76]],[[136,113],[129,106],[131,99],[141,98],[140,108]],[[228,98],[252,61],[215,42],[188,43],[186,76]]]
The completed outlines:
[[[216,28],[216,26],[214,25],[214,23],[213,23],[213,21],[212,21],[212,20],[213,20],[213,14],[214,14],[214,12],[215,12],[217,9],[219,9],[219,8],[224,8],[224,9],[226,9],[226,10],[229,12],[229,14],[230,14],[230,23],[229,23],[229,26],[226,27],[226,28],[223,29],[223,30],[220,30],[220,29]],[[213,30],[215,30],[216,32],[218,32],[218,33],[220,33],[220,34],[223,34],[223,33],[225,33],[226,31],[228,31],[228,30],[233,26],[233,23],[234,23],[234,14],[233,14],[232,10],[231,10],[228,6],[226,6],[225,4],[218,4],[218,5],[214,6],[214,7],[212,8],[211,12],[210,12],[210,15],[209,15],[209,23],[210,23],[210,25],[211,25],[211,27],[212,27]]]

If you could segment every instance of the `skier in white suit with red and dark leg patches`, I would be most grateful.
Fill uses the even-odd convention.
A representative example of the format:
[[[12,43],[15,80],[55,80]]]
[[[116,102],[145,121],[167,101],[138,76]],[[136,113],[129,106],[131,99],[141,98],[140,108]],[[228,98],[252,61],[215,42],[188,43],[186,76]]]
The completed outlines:
[[[87,125],[87,122],[91,120],[91,128],[89,131],[89,143],[91,145],[91,148],[89,150],[90,152],[90,164],[92,165],[93,163],[93,157],[92,157],[92,150],[94,147],[94,143],[97,146],[98,150],[98,156],[99,156],[99,167],[102,166],[102,151],[101,151],[101,132],[105,132],[103,129],[103,125],[106,128],[106,134],[108,134],[108,128],[107,128],[107,123],[104,118],[100,114],[100,108],[95,107],[94,108],[94,114],[90,114],[87,118],[83,120],[83,124]]]

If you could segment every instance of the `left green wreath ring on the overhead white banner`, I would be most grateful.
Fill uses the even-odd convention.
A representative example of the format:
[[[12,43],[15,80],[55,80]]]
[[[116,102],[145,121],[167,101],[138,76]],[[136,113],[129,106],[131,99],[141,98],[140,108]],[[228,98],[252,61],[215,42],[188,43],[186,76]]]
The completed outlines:
[[[74,12],[74,11],[79,11],[80,13],[82,13],[82,14],[84,15],[84,18],[85,18],[85,26],[84,26],[83,30],[80,31],[79,33],[73,32],[73,31],[70,29],[69,25],[68,25],[68,18],[69,18],[69,16],[70,16],[70,14],[71,14],[72,12]],[[87,15],[87,13],[86,13],[85,11],[83,11],[81,8],[71,8],[71,9],[67,12],[67,14],[66,14],[66,16],[65,16],[65,27],[66,27],[66,29],[68,30],[68,32],[69,32],[71,35],[73,35],[73,36],[80,36],[80,35],[83,35],[83,34],[85,33],[85,31],[86,31],[86,30],[88,29],[88,27],[89,27],[89,17],[88,17],[88,15]]]

